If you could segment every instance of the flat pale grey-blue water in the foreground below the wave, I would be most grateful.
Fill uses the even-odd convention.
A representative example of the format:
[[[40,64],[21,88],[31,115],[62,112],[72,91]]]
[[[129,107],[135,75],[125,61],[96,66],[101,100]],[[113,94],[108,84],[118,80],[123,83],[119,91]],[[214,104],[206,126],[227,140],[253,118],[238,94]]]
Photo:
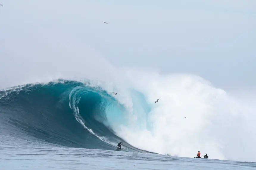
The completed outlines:
[[[256,163],[64,147],[0,147],[1,170],[256,169]],[[210,157],[210,154],[209,154]]]

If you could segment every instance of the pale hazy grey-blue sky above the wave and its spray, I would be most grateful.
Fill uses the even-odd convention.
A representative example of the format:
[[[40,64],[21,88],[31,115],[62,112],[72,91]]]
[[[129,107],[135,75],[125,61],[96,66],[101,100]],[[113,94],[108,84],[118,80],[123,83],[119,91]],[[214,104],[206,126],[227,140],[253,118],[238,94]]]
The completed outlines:
[[[227,91],[255,89],[254,0],[0,4],[1,87],[57,72],[57,61],[87,67],[100,56],[116,67],[195,74]]]

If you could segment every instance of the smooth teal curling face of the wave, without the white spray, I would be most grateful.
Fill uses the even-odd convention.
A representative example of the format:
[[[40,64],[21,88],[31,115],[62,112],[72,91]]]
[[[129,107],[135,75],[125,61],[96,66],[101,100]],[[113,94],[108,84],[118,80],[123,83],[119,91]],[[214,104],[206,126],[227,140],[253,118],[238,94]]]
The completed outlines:
[[[109,126],[107,113],[119,121],[124,107],[102,88],[89,85],[60,80],[1,91],[1,124],[9,125],[5,133],[65,147],[116,150],[123,139]],[[123,143],[123,150],[142,152]]]

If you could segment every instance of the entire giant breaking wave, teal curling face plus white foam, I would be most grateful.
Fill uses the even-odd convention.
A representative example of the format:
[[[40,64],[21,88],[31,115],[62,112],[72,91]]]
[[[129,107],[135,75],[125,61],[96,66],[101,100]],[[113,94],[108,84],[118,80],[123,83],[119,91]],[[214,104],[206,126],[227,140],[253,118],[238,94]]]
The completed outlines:
[[[130,152],[195,157],[200,150],[256,160],[254,107],[199,77],[136,74],[126,74],[122,87],[56,80],[2,90],[1,134],[66,147],[116,150],[123,141]]]

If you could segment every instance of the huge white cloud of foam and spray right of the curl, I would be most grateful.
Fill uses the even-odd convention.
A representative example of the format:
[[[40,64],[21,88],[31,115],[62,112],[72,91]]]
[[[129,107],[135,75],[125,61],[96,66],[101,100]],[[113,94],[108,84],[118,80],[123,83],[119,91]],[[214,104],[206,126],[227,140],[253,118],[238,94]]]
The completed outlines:
[[[139,129],[134,116],[130,117],[129,126],[114,127],[118,136],[129,144],[160,154],[195,157],[200,150],[210,158],[256,161],[253,105],[242,104],[193,75],[131,70],[126,75],[132,88],[143,93],[152,106],[149,117],[144,117],[152,124],[150,130],[146,126]],[[131,101],[130,95],[121,96],[115,96],[121,103]],[[160,100],[155,103],[157,98]],[[129,107],[133,108],[133,114],[143,116],[135,112],[140,103]]]

